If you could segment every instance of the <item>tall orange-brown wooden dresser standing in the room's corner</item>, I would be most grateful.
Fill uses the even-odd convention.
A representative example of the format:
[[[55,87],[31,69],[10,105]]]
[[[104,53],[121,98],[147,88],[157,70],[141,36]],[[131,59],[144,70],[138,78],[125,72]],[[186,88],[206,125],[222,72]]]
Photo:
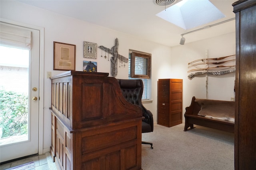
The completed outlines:
[[[158,80],[157,123],[172,127],[182,123],[182,79]]]

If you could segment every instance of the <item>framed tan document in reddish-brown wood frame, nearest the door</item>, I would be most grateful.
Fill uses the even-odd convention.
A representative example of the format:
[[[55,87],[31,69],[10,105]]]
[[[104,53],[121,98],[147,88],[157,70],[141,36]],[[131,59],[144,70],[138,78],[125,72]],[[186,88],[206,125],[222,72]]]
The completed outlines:
[[[76,70],[76,45],[53,42],[53,69]]]

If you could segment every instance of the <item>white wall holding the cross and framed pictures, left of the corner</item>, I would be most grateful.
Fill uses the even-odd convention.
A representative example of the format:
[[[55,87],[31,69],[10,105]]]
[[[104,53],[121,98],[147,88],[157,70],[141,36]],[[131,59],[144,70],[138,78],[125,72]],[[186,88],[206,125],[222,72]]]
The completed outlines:
[[[152,54],[152,103],[145,106],[152,111],[156,121],[156,89],[157,89],[157,69],[165,59],[170,63],[171,48],[149,41],[145,41],[121,32],[106,29],[101,26],[76,20],[32,7],[17,1],[1,0],[1,18],[44,27],[44,152],[49,150],[51,145],[51,83],[46,78],[46,72],[56,75],[63,71],[53,70],[53,41],[76,45],[76,70],[82,71],[83,61],[96,61],[98,72],[110,73],[110,61],[101,56],[101,50],[97,49],[97,59],[83,58],[83,41],[97,43],[111,48],[115,39],[119,40],[118,53],[128,58],[129,49],[143,51]],[[102,52],[103,55],[105,53]],[[107,54],[106,54],[107,55]],[[108,56],[108,55],[107,55]],[[111,56],[110,56],[111,57]],[[167,60],[166,60],[167,59]],[[119,63],[118,63],[119,66]],[[128,64],[126,67],[118,67],[116,78],[128,78]],[[40,120],[42,121],[42,120]]]

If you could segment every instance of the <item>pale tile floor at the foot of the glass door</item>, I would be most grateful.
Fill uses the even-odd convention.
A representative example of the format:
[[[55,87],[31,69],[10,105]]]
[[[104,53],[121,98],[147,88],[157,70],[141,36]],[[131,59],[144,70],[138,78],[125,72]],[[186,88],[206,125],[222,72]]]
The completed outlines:
[[[22,160],[16,160],[14,162],[9,162],[6,164],[0,165],[0,170],[6,170],[8,168],[12,168],[14,166],[18,166],[21,164],[25,164],[27,162],[34,161],[36,164],[35,170],[57,170],[54,162],[52,162],[52,157],[49,152],[46,152],[42,155],[30,156],[28,158],[24,158]]]

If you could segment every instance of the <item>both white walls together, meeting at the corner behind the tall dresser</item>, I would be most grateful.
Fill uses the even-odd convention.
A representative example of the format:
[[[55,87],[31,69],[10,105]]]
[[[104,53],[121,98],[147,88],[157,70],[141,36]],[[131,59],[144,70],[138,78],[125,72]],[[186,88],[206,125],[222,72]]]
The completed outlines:
[[[198,41],[190,44],[180,45],[177,47],[166,47],[164,45],[145,41],[134,36],[127,35],[118,31],[100,27],[91,23],[76,20],[70,17],[62,16],[32,7],[17,1],[1,0],[0,16],[1,18],[18,21],[30,25],[44,27],[44,152],[48,151],[51,145],[51,116],[49,107],[51,106],[51,83],[46,78],[46,72],[52,72],[56,75],[63,71],[53,70],[53,41],[69,43],[76,45],[76,70],[82,71],[82,62],[96,61],[98,72],[110,73],[110,61],[100,57],[101,50],[97,49],[97,59],[83,58],[83,41],[97,43],[111,48],[114,46],[116,38],[119,40],[118,53],[128,57],[129,49],[143,51],[152,54],[152,102],[144,106],[152,111],[154,121],[157,115],[157,81],[159,78],[182,78],[183,82],[183,113],[185,107],[190,105],[192,96],[198,98],[205,97],[205,77],[196,77],[192,80],[187,78],[187,63],[195,59],[205,57],[205,50],[208,49],[209,58],[224,57],[232,55],[235,52],[235,34],[231,33],[223,37],[215,37]],[[105,53],[102,52],[103,55]],[[108,56],[108,55],[107,55]],[[119,66],[119,65],[118,65]],[[128,66],[118,67],[116,78],[128,78]],[[210,80],[210,78],[209,78]],[[230,100],[232,94],[231,87],[234,86],[234,74],[225,76],[225,78],[213,78],[209,85],[209,98]],[[210,88],[215,84],[227,84],[227,87],[216,94],[215,88]],[[217,86],[216,86],[217,87]],[[218,87],[217,87],[218,88]],[[221,88],[220,88],[221,89]],[[218,88],[219,90],[219,88]],[[40,120],[42,121],[42,120]]]

